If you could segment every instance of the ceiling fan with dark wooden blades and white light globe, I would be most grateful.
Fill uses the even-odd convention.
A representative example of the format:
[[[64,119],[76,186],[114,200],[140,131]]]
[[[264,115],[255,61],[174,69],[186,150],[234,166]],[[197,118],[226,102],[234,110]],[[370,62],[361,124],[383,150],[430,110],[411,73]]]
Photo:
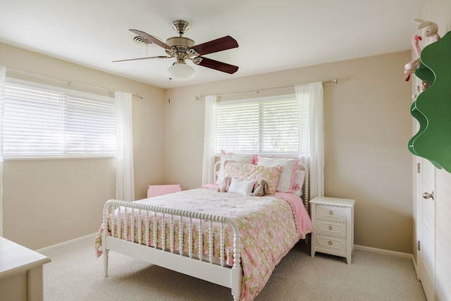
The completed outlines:
[[[238,67],[215,61],[204,57],[205,54],[212,54],[214,52],[233,49],[238,47],[238,43],[233,37],[225,36],[218,39],[211,40],[202,44],[195,45],[194,40],[183,37],[183,34],[190,28],[190,23],[184,20],[175,20],[172,23],[173,30],[178,32],[178,37],[170,37],[166,42],[147,34],[140,30],[130,30],[153,44],[165,49],[167,56],[149,56],[138,59],[124,59],[119,61],[135,61],[142,59],[170,59],[175,58],[175,63],[168,68],[168,75],[174,80],[189,80],[194,76],[194,68],[187,65],[186,60],[192,61],[195,65],[211,68],[225,73],[233,74],[237,72]],[[149,43],[147,43],[149,44]]]

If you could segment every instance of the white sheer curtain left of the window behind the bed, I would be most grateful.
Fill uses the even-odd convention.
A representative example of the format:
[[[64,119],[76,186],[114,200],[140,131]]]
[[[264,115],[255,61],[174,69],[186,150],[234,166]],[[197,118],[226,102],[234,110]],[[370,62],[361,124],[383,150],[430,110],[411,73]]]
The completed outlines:
[[[205,97],[204,121],[204,165],[202,166],[202,185],[213,183],[214,180],[214,110],[216,95]]]

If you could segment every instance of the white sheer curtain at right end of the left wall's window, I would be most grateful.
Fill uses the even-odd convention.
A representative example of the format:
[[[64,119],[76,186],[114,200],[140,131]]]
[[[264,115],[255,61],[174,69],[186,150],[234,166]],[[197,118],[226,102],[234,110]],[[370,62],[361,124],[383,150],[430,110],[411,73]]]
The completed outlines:
[[[116,97],[116,199],[135,200],[133,168],[132,94],[115,92]]]

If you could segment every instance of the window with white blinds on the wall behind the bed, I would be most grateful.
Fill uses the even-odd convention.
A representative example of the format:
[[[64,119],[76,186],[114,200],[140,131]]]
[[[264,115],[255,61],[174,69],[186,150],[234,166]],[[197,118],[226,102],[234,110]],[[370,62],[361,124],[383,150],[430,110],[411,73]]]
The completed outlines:
[[[217,102],[215,152],[299,153],[299,111],[295,95],[243,102]]]

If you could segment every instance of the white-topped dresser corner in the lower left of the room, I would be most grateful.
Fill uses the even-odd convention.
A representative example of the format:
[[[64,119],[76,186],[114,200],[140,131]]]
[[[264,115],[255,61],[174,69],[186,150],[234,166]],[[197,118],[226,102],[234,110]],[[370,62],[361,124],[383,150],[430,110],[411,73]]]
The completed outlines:
[[[50,258],[0,237],[0,300],[42,301],[42,265]]]

